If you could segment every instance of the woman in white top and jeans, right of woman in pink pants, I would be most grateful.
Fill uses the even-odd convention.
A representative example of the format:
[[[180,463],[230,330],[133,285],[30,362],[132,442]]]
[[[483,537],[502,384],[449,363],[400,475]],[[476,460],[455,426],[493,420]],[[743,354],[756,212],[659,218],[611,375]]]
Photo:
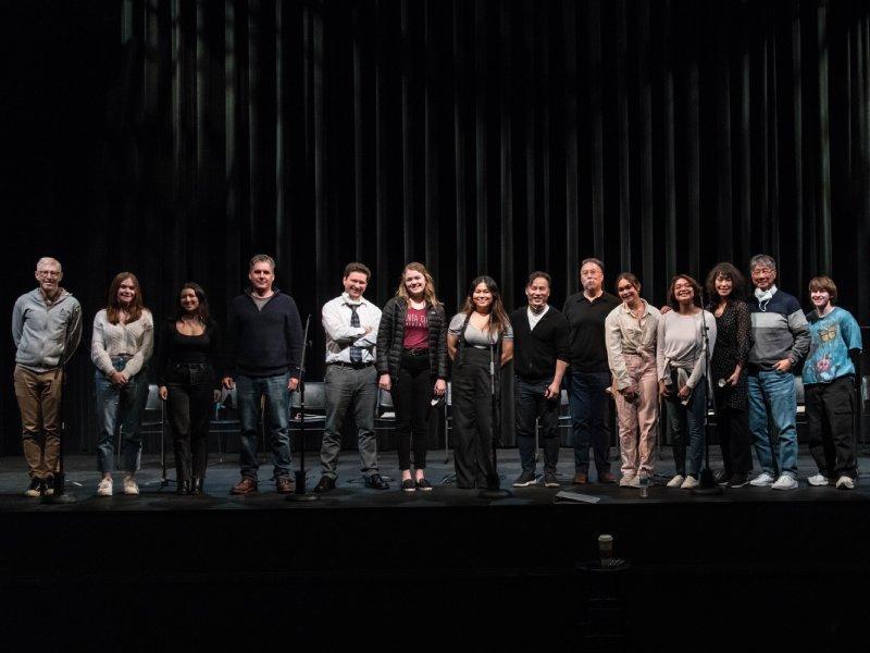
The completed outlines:
[[[697,488],[704,456],[707,411],[707,350],[716,344],[716,318],[701,309],[700,285],[686,274],[671,281],[668,303],[658,324],[656,364],[659,394],[664,397],[668,431],[676,467],[669,488]],[[705,329],[706,335],[705,337]],[[688,438],[688,473],[686,473]]]

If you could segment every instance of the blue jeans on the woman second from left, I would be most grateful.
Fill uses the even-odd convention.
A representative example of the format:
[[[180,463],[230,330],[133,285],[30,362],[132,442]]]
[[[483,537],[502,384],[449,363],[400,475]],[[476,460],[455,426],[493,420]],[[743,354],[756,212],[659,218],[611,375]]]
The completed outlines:
[[[122,371],[128,357],[112,358],[112,366]],[[121,452],[124,470],[139,469],[142,454],[141,421],[145,404],[148,401],[148,379],[146,369],[129,379],[124,387],[115,387],[109,377],[97,370],[95,375],[97,391],[97,464],[102,473],[114,469],[115,433],[121,427]]]

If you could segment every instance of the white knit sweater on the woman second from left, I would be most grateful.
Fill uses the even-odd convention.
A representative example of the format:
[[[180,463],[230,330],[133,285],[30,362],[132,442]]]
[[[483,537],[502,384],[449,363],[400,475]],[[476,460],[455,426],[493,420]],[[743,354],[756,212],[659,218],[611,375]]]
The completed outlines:
[[[142,309],[141,317],[126,324],[110,324],[105,309],[94,318],[94,337],[90,340],[90,359],[107,377],[114,371],[113,356],[132,356],[124,369],[127,377],[138,374],[154,350],[154,320],[151,311]]]

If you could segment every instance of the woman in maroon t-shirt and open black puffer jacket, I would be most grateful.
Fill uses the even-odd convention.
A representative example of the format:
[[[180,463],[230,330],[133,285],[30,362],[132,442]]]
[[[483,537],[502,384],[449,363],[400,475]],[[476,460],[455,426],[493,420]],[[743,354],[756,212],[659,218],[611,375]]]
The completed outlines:
[[[384,306],[376,359],[378,384],[391,392],[396,408],[401,489],[432,490],[425,478],[428,417],[433,394],[440,397],[447,392],[447,321],[422,263],[405,267],[396,296]]]

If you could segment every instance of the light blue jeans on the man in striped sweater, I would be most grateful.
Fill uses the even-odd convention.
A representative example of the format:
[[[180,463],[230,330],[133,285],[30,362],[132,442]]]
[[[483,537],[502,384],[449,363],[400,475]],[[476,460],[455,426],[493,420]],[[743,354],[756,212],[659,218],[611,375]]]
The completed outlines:
[[[787,473],[797,478],[795,378],[791,372],[759,370],[750,373],[747,381],[749,431],[761,471],[774,477]],[[774,449],[778,449],[775,461]]]

